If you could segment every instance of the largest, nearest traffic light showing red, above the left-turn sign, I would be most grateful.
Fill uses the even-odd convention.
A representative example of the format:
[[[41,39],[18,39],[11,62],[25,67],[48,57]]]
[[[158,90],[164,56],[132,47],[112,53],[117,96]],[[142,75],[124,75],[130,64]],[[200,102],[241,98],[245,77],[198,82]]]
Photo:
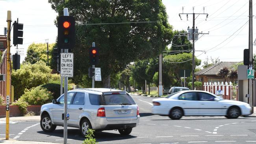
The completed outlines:
[[[72,16],[58,18],[58,48],[72,49],[75,46],[75,19]]]

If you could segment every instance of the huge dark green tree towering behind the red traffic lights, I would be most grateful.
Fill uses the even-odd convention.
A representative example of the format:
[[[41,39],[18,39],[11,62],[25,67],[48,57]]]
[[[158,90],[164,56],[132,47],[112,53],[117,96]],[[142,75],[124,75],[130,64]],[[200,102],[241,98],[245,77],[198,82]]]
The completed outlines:
[[[76,55],[75,83],[81,83],[87,74],[88,49],[92,42],[100,50],[97,66],[102,70],[102,86],[108,88],[111,74],[124,70],[130,62],[160,54],[173,37],[161,0],[48,2],[59,15],[63,15],[63,7],[69,8],[69,15],[76,20],[76,46],[72,50]]]

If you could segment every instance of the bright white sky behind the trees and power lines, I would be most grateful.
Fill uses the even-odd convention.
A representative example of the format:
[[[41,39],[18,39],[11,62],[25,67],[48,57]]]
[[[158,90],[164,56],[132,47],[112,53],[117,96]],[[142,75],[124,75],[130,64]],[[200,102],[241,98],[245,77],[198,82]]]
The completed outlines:
[[[243,50],[249,48],[249,0],[162,0],[169,17],[168,22],[173,30],[187,30],[193,26],[193,15],[181,15],[179,13],[208,13],[195,15],[195,26],[198,31],[209,34],[199,34],[195,42],[195,55],[202,62],[208,57],[220,61],[243,61]],[[253,13],[256,3],[253,1]],[[183,11],[182,11],[183,7]],[[204,8],[204,9],[203,9]],[[56,41],[58,29],[54,25],[57,13],[52,10],[48,0],[0,0],[0,35],[4,34],[7,27],[7,11],[11,11],[14,22],[19,18],[19,23],[24,24],[23,44],[19,45],[26,54],[30,44],[49,43]],[[253,17],[253,28],[255,26]],[[253,29],[254,30],[254,29]],[[11,33],[12,35],[13,33]],[[254,42],[256,33],[253,31]],[[12,42],[11,42],[12,43]],[[253,46],[253,52],[256,46]],[[11,47],[11,53],[17,50]],[[203,51],[203,52],[202,52]],[[26,55],[21,55],[21,60]]]

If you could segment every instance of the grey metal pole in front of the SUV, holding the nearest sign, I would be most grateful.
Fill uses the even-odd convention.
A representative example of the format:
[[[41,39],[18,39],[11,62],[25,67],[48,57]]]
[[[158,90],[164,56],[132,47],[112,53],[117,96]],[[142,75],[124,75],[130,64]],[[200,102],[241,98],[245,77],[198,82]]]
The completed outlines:
[[[64,16],[69,16],[68,8],[64,8],[63,13],[64,13]],[[64,52],[68,53],[69,49],[65,49]],[[61,81],[61,83],[62,83],[62,81]],[[61,87],[61,89],[62,89],[62,87]],[[67,115],[67,93],[68,93],[68,78],[65,77],[64,78],[64,133],[63,133],[64,143],[63,144],[67,144],[67,136],[68,136],[67,135],[68,134],[67,119],[66,119],[66,115]]]

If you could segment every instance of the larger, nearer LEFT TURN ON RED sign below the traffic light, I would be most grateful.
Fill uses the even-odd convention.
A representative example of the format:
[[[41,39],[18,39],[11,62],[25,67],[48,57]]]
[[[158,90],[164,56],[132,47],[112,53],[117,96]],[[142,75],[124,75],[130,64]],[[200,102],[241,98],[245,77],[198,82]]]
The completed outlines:
[[[60,76],[61,77],[73,77],[73,66],[74,66],[74,54],[73,53],[61,53],[60,54]]]

